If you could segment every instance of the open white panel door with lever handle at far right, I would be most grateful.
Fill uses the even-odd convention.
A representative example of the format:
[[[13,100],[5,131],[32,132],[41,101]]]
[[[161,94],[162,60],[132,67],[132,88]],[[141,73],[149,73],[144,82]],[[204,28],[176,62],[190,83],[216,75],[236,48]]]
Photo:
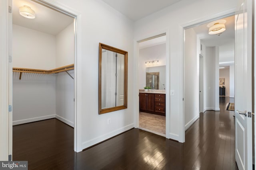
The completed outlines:
[[[235,17],[235,152],[239,170],[252,170],[252,1],[238,0]],[[245,114],[242,114],[245,113]]]

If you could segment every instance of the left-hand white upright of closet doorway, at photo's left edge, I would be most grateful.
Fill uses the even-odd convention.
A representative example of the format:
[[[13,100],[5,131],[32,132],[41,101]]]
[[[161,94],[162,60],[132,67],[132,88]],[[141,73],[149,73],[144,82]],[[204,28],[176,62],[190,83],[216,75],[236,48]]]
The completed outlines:
[[[8,160],[9,154],[9,24],[8,0],[0,1],[0,160]]]

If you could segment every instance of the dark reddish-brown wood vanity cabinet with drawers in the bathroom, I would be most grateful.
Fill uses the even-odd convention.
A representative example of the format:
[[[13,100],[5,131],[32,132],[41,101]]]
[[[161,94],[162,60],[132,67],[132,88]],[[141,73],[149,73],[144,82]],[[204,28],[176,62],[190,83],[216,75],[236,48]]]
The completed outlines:
[[[140,111],[165,116],[165,94],[140,93]]]

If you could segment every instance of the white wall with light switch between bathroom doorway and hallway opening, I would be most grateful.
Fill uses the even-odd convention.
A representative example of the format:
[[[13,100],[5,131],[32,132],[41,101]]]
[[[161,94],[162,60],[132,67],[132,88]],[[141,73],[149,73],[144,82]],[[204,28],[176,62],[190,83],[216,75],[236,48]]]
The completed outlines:
[[[221,4],[221,6],[219,5]],[[166,107],[170,109],[170,138],[184,141],[183,136],[183,32],[181,27],[196,20],[209,20],[210,18],[221,15],[223,11],[227,13],[234,12],[236,1],[234,0],[182,0],[174,5],[164,8],[163,10],[151,14],[141,20],[135,22],[134,26],[134,39],[140,41],[146,37],[158,35],[162,31],[168,31],[170,39],[170,62],[166,63],[166,68],[170,75],[168,89],[174,90],[174,96],[170,96],[170,103]],[[203,10],[202,10],[203,9]],[[228,11],[228,12],[227,12]],[[136,46],[134,46],[136,47]],[[137,83],[134,77],[134,84]],[[134,94],[136,98],[136,94]],[[136,104],[136,102],[134,102]],[[168,113],[167,113],[168,114]],[[168,127],[167,127],[168,128]]]

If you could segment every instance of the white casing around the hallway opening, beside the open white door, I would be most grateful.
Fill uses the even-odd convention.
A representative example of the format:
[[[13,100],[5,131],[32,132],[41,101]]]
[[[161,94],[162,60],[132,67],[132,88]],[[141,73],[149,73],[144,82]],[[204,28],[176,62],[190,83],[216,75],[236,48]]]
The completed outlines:
[[[214,21],[214,20],[218,20],[218,19],[221,19],[221,18],[226,18],[226,17],[229,17],[229,16],[234,16],[235,15],[235,11],[236,11],[236,8],[233,8],[233,9],[230,9],[230,10],[226,10],[226,11],[223,11],[223,12],[220,12],[220,13],[217,13],[217,14],[214,14],[214,15],[210,15],[210,16],[204,16],[202,18],[198,18],[196,20],[192,20],[192,21],[189,21],[187,23],[183,23],[183,24],[180,24],[179,25],[179,37],[182,37],[182,41],[180,41],[180,47],[181,47],[181,55],[179,57],[180,59],[180,63],[182,63],[182,66],[184,67],[184,61],[185,61],[185,55],[184,55],[184,47],[185,47],[185,29],[188,29],[188,28],[192,28],[192,27],[195,27],[195,26],[198,26],[198,25],[202,25],[204,23],[208,23],[208,22],[211,22],[211,21]],[[199,49],[198,49],[199,50]],[[185,83],[184,83],[184,68],[182,69],[182,86],[183,86],[183,92],[182,94],[180,94],[179,96],[179,100],[182,101],[182,99],[184,98],[184,92],[185,92]],[[181,80],[180,80],[181,81]],[[184,125],[184,102],[182,103],[182,105],[180,106],[180,111],[182,111],[183,114],[180,114],[179,115],[179,124],[180,124],[180,127],[179,127],[179,142],[185,142],[185,125]]]

